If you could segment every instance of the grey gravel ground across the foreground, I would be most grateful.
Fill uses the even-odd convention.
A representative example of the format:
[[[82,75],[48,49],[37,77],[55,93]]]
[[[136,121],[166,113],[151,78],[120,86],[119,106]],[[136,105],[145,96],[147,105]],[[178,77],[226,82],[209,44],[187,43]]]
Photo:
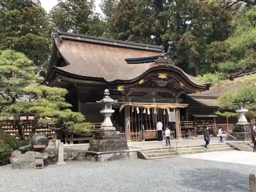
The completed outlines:
[[[254,166],[188,158],[68,162],[39,169],[0,167],[4,192],[248,191]]]

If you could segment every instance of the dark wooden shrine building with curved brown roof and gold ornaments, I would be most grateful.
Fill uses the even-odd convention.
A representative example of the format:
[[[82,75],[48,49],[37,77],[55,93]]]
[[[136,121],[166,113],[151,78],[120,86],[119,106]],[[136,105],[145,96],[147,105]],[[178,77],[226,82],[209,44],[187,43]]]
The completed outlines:
[[[95,126],[103,121],[96,100],[110,90],[111,97],[118,99],[113,124],[127,140],[154,138],[158,120],[176,138],[193,134],[195,127],[199,134],[205,121],[216,132],[223,121],[215,115],[218,96],[204,96],[211,91],[209,84],[175,66],[169,54],[160,46],[61,32],[53,42],[42,84],[67,89],[72,110]]]

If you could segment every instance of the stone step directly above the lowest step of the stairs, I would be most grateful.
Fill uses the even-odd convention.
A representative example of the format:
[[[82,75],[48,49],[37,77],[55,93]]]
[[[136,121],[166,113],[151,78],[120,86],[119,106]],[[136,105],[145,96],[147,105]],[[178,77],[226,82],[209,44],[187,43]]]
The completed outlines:
[[[214,148],[226,148],[229,145],[210,145],[207,148],[214,149]],[[183,151],[198,151],[198,150],[204,150],[203,146],[197,146],[197,147],[185,147],[185,148],[178,148],[178,152],[183,152]],[[144,151],[146,154],[157,154],[157,153],[171,153],[171,152],[176,152],[176,148],[168,148],[168,149],[163,149],[163,150],[148,150]]]

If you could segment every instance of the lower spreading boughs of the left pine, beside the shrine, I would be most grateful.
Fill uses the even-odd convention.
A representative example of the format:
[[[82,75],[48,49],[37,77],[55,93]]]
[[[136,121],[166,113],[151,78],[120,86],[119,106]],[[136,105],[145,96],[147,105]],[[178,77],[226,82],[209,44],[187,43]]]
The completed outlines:
[[[37,86],[36,88],[24,88],[23,95],[30,101],[16,101],[4,108],[5,117],[10,116],[34,116],[39,126],[61,128],[67,132],[88,134],[92,124],[85,122],[84,116],[78,112],[72,112],[71,104],[66,103],[66,89]]]

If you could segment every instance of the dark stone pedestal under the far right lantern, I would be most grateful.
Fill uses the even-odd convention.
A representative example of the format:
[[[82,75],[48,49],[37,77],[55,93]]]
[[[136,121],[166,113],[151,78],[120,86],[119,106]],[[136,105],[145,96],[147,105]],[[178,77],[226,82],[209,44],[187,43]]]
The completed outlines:
[[[250,141],[251,140],[251,128],[249,124],[236,124],[236,127],[233,129],[232,136],[236,137],[236,140],[239,141]],[[228,140],[232,140],[229,136]]]

